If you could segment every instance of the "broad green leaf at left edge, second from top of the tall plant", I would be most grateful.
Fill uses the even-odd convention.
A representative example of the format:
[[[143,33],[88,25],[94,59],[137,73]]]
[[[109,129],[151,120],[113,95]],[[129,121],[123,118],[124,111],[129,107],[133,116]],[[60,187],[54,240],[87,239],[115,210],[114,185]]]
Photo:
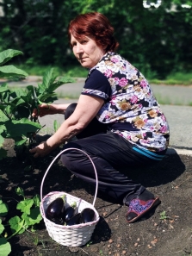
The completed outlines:
[[[24,76],[27,77],[28,73],[18,69],[13,65],[0,66],[0,78],[7,78],[11,76]]]

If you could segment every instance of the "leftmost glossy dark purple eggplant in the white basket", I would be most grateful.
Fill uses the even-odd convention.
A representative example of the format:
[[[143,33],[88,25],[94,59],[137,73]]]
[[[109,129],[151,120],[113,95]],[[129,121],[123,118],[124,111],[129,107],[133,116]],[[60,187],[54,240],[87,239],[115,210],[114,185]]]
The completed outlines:
[[[63,211],[65,210],[65,195],[63,197],[58,197],[53,200],[52,203],[46,209],[46,217],[50,221],[59,220]]]

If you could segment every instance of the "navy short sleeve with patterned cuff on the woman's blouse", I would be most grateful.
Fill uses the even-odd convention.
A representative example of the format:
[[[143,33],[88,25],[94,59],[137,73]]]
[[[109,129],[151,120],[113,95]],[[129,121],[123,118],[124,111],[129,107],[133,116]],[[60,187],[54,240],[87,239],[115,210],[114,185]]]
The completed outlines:
[[[90,73],[90,77],[85,81],[81,94],[100,97],[104,100],[108,99],[111,95],[111,86],[108,82],[108,78],[106,78],[102,72],[96,69],[93,70],[93,72]]]

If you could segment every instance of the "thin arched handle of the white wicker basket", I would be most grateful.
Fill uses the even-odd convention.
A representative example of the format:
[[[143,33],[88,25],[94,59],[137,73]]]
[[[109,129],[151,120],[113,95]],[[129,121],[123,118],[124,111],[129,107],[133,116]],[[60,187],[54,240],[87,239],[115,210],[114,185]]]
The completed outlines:
[[[66,148],[66,149],[62,150],[62,151],[53,159],[53,161],[51,162],[51,164],[50,164],[50,165],[48,166],[48,168],[46,169],[46,172],[45,172],[45,174],[44,174],[44,176],[43,176],[43,178],[42,178],[41,184],[40,184],[40,200],[41,200],[41,202],[42,202],[42,190],[43,190],[43,184],[44,184],[44,181],[45,181],[45,178],[46,178],[46,174],[49,172],[49,170],[50,170],[51,166],[53,165],[54,161],[59,158],[59,155],[61,155],[61,154],[64,153],[65,151],[68,151],[68,150],[71,150],[71,149],[72,149],[72,150],[77,150],[77,151],[80,151],[80,152],[84,153],[84,154],[90,159],[90,162],[91,162],[91,164],[93,165],[93,168],[94,168],[94,171],[95,171],[95,175],[96,175],[96,191],[95,191],[95,196],[94,196],[94,200],[93,200],[93,203],[92,203],[92,205],[93,205],[93,207],[94,207],[94,205],[95,205],[95,203],[96,203],[96,195],[97,195],[97,190],[98,190],[98,177],[97,177],[97,173],[96,173],[96,166],[94,165],[94,163],[93,163],[93,161],[92,161],[92,159],[90,158],[90,156],[89,156],[88,153],[85,153],[83,150],[78,149],[78,148],[75,148],[75,147],[69,147],[69,148]]]

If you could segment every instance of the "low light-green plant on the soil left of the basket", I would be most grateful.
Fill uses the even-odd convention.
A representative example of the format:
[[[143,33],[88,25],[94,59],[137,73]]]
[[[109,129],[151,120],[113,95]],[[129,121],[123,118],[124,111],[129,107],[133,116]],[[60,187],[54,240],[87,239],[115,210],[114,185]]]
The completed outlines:
[[[17,203],[16,209],[20,209],[21,215],[15,215],[9,219],[8,224],[3,224],[0,219],[0,255],[7,256],[11,252],[9,239],[16,234],[24,233],[28,228],[34,231],[34,225],[40,223],[42,217],[40,215],[40,196],[35,195],[34,198],[26,198],[22,188],[16,188],[15,193],[22,196],[22,201]],[[8,205],[0,200],[0,217],[7,215],[9,212]],[[9,231],[10,229],[10,231]],[[11,232],[12,234],[9,234]],[[8,236],[9,234],[9,236]]]

